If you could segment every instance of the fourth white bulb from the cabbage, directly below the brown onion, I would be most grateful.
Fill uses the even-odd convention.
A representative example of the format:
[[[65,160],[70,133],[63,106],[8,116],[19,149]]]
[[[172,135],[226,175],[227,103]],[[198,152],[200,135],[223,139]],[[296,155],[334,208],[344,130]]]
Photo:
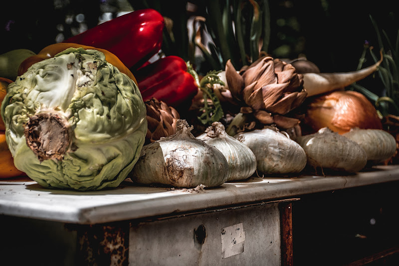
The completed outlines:
[[[355,141],[329,128],[299,136],[296,141],[305,150],[308,164],[314,168],[358,172],[366,166],[366,151]]]

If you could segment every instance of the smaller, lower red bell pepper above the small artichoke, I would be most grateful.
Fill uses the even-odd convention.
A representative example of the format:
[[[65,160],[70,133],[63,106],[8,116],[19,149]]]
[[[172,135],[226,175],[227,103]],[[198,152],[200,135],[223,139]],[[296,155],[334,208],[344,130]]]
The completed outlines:
[[[186,61],[179,56],[166,56],[133,71],[144,101],[153,97],[176,109],[190,107],[199,87],[188,72]]]

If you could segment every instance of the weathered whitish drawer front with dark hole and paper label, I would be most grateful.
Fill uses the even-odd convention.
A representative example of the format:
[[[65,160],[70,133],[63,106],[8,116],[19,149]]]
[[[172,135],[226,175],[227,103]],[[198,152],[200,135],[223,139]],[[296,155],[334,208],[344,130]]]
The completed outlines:
[[[129,265],[275,266],[281,261],[277,203],[141,222],[131,225],[129,235]]]

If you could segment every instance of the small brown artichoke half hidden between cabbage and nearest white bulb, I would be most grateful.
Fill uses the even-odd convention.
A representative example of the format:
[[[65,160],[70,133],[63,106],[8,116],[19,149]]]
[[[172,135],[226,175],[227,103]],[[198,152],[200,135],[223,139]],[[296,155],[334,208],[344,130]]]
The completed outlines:
[[[175,108],[155,98],[145,101],[145,104],[148,122],[145,144],[176,133],[176,122],[180,119],[180,115]]]

